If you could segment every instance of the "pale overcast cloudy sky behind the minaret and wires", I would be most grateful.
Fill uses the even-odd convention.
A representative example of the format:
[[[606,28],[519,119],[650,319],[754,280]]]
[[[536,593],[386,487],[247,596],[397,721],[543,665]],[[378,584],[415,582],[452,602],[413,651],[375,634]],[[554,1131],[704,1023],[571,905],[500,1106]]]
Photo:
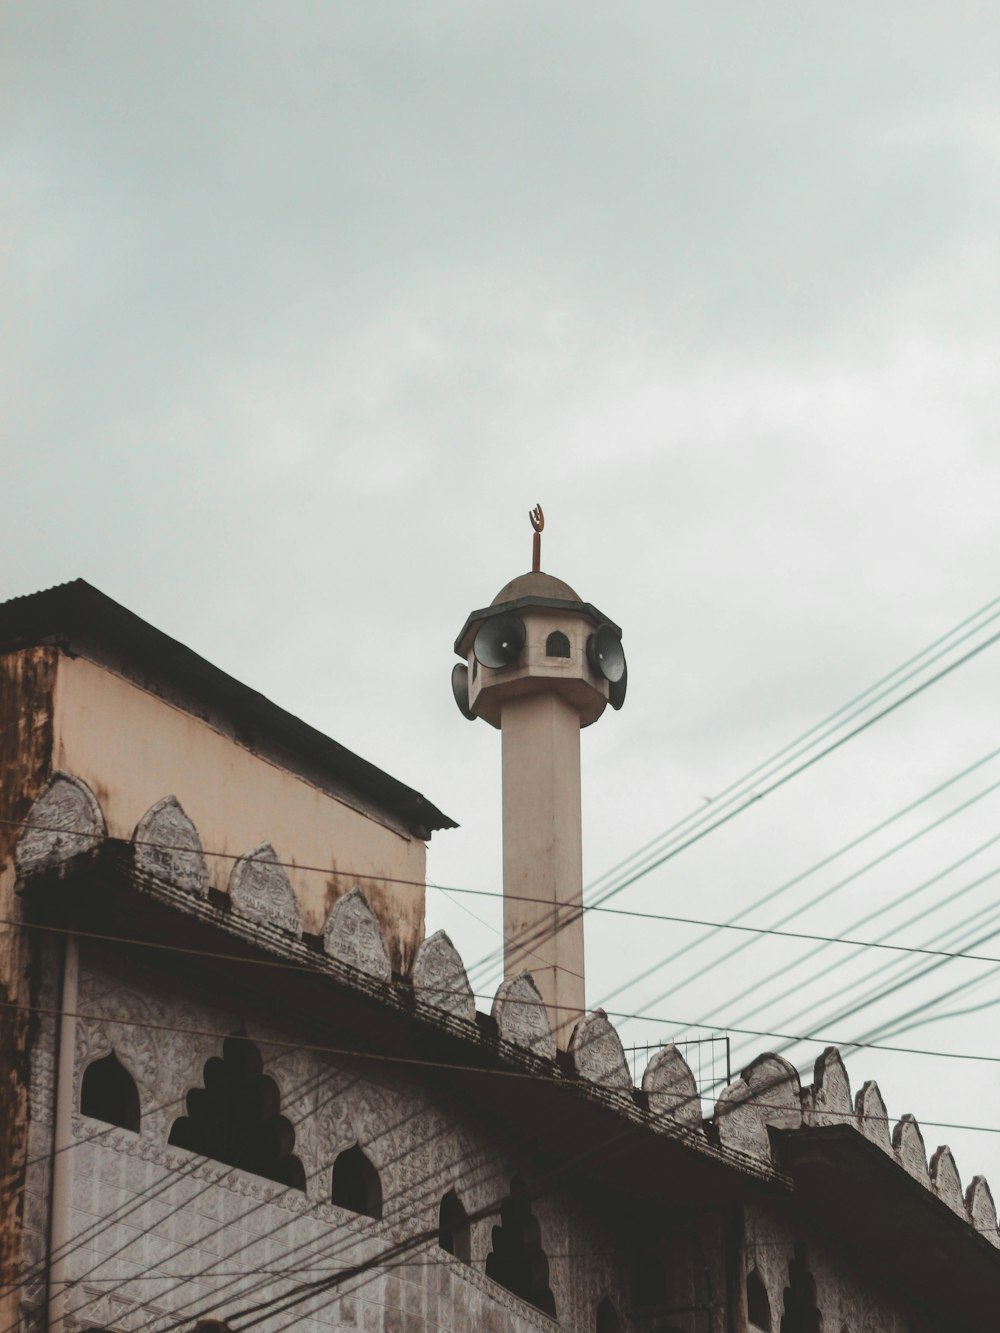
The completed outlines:
[[[435,884],[500,888],[452,641],[535,503],[629,661],[588,882],[1000,596],[995,7],[35,0],[0,61],[0,597],[85,577],[423,790]],[[1000,758],[753,906],[1000,748],[997,653],[609,905],[1000,957]],[[480,1008],[499,924],[428,890]],[[920,960],[587,929],[627,1045],[1000,1056],[996,965],[863,1004]],[[945,1054],[848,1072],[1000,1188],[1000,1065]]]

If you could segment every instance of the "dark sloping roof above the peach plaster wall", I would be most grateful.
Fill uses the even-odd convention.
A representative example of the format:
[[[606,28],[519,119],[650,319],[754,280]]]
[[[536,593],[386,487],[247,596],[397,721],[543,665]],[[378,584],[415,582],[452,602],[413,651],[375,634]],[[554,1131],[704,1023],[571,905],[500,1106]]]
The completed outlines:
[[[323,790],[361,798],[415,837],[457,828],[420,792],[171,639],[84,579],[0,603],[0,652],[55,644],[204,718]]]

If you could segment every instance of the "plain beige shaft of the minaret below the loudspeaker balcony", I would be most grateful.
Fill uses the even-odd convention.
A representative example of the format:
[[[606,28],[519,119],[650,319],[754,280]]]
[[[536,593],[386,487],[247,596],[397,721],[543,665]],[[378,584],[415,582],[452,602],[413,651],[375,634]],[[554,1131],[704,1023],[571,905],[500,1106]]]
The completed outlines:
[[[555,692],[500,708],[504,976],[531,972],[565,1046],[584,1013],[580,714]]]

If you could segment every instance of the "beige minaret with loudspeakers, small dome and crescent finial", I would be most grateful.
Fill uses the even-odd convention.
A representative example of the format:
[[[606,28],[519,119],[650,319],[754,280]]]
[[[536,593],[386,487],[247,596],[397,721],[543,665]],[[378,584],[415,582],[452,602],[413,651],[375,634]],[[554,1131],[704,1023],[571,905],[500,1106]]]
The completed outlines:
[[[504,974],[532,973],[565,1049],[585,1008],[580,729],[621,708],[627,672],[619,627],[541,572],[531,521],[532,571],[468,617],[452,688],[503,740]]]

